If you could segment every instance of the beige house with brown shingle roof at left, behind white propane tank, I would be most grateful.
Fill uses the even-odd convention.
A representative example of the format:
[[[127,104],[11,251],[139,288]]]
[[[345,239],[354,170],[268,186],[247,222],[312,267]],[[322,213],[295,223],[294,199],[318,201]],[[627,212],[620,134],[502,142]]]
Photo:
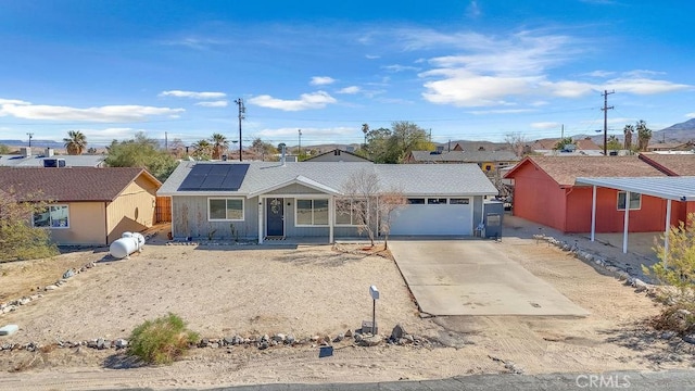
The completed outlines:
[[[59,245],[108,245],[126,231],[154,224],[162,184],[142,168],[0,167],[0,189],[20,201],[49,201],[31,223],[51,231]]]

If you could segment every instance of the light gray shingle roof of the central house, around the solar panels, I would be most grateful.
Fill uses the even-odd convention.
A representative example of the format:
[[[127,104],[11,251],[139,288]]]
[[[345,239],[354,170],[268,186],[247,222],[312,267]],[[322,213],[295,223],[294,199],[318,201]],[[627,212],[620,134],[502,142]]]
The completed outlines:
[[[219,194],[213,191],[179,191],[194,164],[240,164],[229,162],[181,162],[157,191],[159,195]],[[253,194],[298,177],[342,191],[345,180],[361,169],[378,175],[383,190],[399,190],[405,195],[493,195],[497,189],[476,164],[374,164],[369,162],[244,162],[247,176],[237,194]],[[229,192],[222,192],[229,194]]]

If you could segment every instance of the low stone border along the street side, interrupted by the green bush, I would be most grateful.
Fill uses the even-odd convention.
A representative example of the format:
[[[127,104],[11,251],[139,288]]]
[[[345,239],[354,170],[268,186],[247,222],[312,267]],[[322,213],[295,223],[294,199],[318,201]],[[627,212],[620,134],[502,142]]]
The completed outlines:
[[[345,332],[341,332],[331,336],[313,336],[306,337],[302,339],[296,339],[292,335],[285,333],[276,333],[273,337],[268,335],[264,336],[251,336],[251,337],[241,337],[239,335],[233,337],[224,337],[224,338],[202,338],[198,343],[191,345],[190,348],[210,348],[210,349],[220,349],[220,348],[231,348],[231,346],[240,346],[240,348],[256,348],[258,350],[266,350],[274,346],[301,346],[301,345],[311,345],[312,348],[317,346],[330,346],[331,343],[339,343],[344,341],[353,340],[353,343],[359,346],[378,346],[380,344],[393,344],[393,345],[413,345],[418,348],[431,348],[434,345],[439,345],[438,341],[430,340],[425,337],[413,336],[407,333],[401,325],[396,325],[391,331],[390,337],[376,335],[372,336],[370,333],[361,332],[359,330],[352,331],[348,330]],[[40,350],[45,350],[51,346],[55,346],[59,349],[94,349],[94,350],[122,350],[128,346],[128,340],[124,338],[118,338],[115,340],[104,339],[104,338],[96,338],[84,341],[58,341],[51,344],[40,344],[37,342],[27,342],[27,343],[3,343],[0,344],[0,351],[27,351],[27,352],[36,352]]]

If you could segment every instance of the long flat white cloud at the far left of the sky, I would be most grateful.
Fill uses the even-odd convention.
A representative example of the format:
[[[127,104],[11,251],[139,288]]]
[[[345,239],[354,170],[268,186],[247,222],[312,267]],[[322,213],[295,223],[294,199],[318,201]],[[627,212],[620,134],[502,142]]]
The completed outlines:
[[[7,100],[4,100],[7,101]],[[105,105],[99,108],[77,109],[28,102],[0,102],[0,116],[13,116],[24,119],[43,121],[84,121],[84,122],[138,122],[150,116],[175,116],[184,109],[154,108],[142,105]]]

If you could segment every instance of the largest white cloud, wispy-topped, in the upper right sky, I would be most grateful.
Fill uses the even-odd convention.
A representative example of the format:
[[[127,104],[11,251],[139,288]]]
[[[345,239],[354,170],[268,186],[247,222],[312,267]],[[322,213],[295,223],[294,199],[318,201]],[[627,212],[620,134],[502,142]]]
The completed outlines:
[[[460,42],[454,42],[460,39]],[[460,47],[465,42],[467,47]],[[552,71],[571,63],[584,46],[561,35],[536,35],[521,31],[507,38],[477,34],[443,35],[425,31],[407,36],[405,47],[425,48],[446,45],[460,53],[428,60],[431,68],[418,76],[424,79],[422,97],[432,103],[455,106],[508,105],[519,97],[574,99],[604,89],[652,94],[693,88],[685,84],[655,78],[659,72],[635,70],[604,83],[582,79],[553,80]],[[594,71],[583,77],[615,76],[607,71]]]

